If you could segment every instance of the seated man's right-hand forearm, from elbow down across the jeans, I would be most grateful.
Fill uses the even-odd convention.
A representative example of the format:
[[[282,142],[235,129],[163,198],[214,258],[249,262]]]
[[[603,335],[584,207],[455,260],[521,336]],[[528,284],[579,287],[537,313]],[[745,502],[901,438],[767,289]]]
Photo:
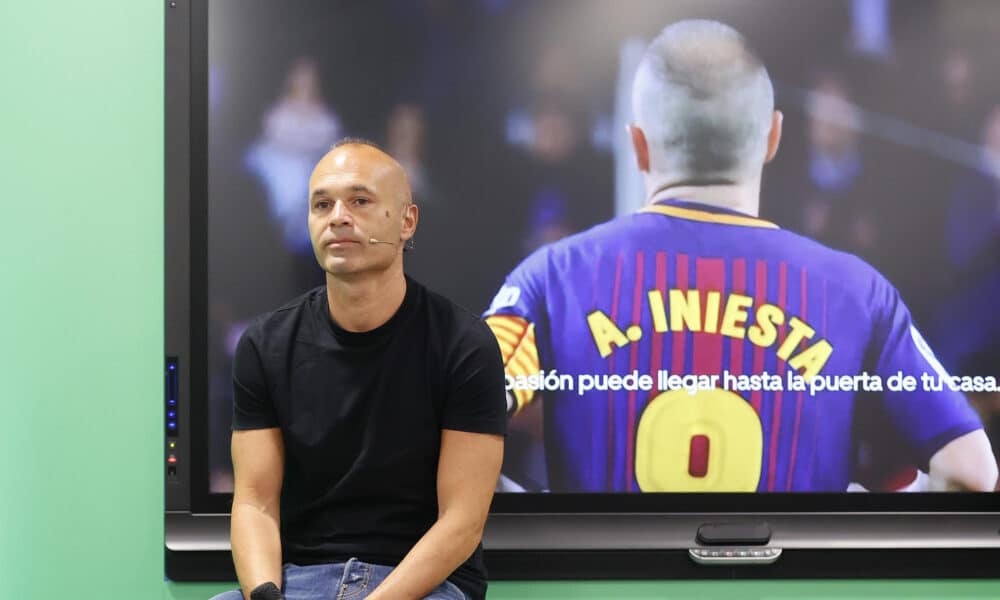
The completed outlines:
[[[416,600],[441,585],[475,551],[483,531],[459,518],[438,519],[369,600]]]

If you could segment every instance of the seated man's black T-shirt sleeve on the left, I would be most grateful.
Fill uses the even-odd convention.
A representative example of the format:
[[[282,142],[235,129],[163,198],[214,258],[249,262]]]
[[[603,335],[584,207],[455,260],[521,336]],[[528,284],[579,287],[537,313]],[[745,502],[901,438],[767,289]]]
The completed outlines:
[[[251,326],[243,332],[233,357],[233,429],[236,431],[278,427],[253,331],[255,327]]]

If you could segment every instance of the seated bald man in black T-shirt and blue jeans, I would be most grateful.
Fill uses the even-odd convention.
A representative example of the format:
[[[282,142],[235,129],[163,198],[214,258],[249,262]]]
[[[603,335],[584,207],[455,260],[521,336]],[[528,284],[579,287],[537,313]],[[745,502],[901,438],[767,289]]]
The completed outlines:
[[[483,598],[506,425],[496,340],[404,274],[418,210],[390,156],[338,143],[303,202],[326,285],[237,346],[242,594],[217,599]]]

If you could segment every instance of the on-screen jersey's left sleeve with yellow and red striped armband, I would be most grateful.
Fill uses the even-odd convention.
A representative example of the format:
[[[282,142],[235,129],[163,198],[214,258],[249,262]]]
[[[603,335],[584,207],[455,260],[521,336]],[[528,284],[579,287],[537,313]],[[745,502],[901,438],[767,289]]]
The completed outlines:
[[[483,316],[500,345],[504,373],[510,381],[513,398],[511,413],[517,413],[535,398],[531,386],[516,385],[518,381],[537,376],[541,370],[537,323],[545,323],[545,300],[541,275],[546,264],[544,251],[521,263],[504,281]]]

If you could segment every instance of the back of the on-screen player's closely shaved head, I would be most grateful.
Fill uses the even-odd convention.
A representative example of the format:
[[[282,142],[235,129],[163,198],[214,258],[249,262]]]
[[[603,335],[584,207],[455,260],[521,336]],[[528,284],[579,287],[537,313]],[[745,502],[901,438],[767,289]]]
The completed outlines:
[[[759,174],[774,88],[732,27],[690,20],[665,28],[639,64],[632,103],[651,171],[705,180]]]

